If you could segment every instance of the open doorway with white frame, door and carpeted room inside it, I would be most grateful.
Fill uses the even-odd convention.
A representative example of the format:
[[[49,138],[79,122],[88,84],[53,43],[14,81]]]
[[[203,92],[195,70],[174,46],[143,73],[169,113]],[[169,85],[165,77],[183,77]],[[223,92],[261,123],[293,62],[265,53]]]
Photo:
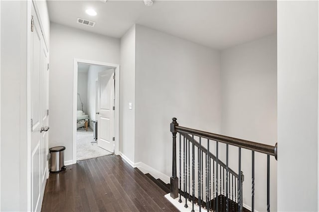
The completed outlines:
[[[118,72],[118,65],[74,62],[73,163],[117,152]]]

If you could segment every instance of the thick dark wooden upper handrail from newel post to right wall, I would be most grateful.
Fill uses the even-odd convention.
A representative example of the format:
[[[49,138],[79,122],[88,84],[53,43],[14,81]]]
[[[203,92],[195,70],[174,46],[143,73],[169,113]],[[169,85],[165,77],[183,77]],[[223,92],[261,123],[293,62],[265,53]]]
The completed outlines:
[[[174,127],[175,127],[175,130],[177,132],[190,133],[193,135],[208,138],[208,139],[215,140],[218,142],[222,142],[222,143],[230,144],[233,146],[241,147],[244,149],[249,149],[252,151],[275,156],[275,158],[277,160],[277,143],[275,144],[275,146],[271,146],[271,145],[257,143],[257,142],[248,141],[248,140],[243,140],[243,139],[239,139],[239,138],[233,138],[233,137],[229,137],[229,136],[225,136],[225,135],[219,135],[219,134],[215,134],[215,133],[211,133],[211,132],[205,132],[205,131],[201,131],[201,130],[197,130],[197,129],[191,129],[191,128],[187,128],[187,127],[183,127],[183,126],[179,126],[179,125],[175,125]]]

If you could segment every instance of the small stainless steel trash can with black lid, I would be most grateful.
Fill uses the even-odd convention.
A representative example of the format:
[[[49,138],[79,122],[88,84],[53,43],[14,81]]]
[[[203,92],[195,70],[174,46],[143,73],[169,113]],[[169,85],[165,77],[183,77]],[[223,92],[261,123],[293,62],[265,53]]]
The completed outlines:
[[[56,146],[49,149],[51,154],[51,173],[57,173],[64,171],[66,166],[64,166],[64,146]]]

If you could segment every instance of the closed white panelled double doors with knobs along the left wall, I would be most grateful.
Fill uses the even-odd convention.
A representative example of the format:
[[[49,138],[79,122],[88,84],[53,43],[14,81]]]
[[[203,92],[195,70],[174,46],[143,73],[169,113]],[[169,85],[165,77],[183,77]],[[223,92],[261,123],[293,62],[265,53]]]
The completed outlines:
[[[32,6],[33,31],[30,34],[30,116],[31,116],[31,211],[40,211],[47,178],[48,134],[48,52]],[[45,129],[47,130],[47,129]]]

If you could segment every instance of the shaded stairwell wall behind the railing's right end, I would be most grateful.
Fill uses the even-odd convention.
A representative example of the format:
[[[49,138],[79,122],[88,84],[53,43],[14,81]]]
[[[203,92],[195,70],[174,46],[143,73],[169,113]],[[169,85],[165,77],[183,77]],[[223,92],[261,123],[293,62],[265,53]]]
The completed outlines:
[[[222,134],[275,145],[277,142],[277,37],[221,52]],[[225,160],[225,145],[220,144]],[[238,148],[229,147],[229,166],[238,172]],[[266,209],[267,156],[255,153],[255,210]],[[251,207],[251,151],[242,150],[243,203]],[[271,211],[277,211],[277,161],[271,159]]]

